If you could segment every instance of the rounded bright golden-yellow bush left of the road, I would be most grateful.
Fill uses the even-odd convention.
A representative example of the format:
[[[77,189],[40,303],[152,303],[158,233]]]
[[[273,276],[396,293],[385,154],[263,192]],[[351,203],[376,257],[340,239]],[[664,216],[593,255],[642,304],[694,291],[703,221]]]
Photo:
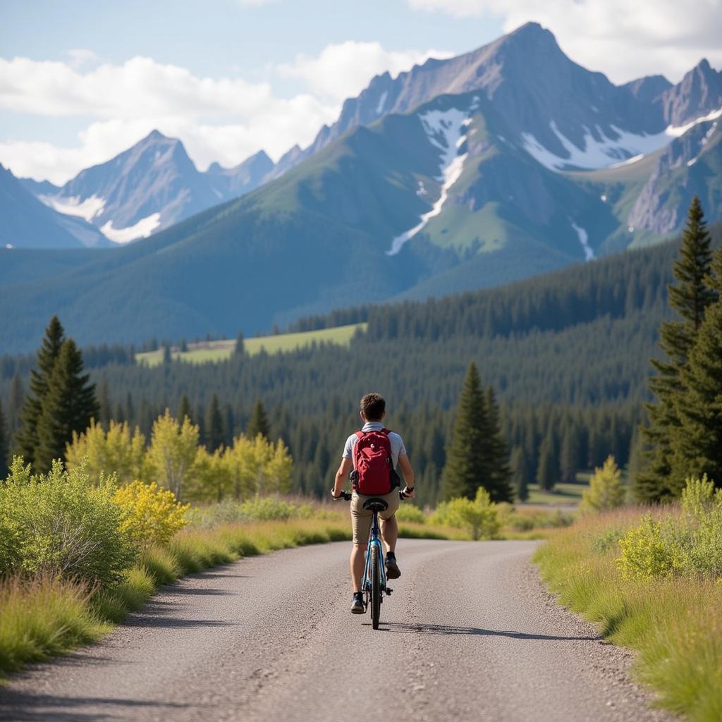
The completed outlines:
[[[155,482],[133,482],[116,490],[113,496],[121,507],[121,531],[139,549],[152,544],[168,544],[173,534],[188,523],[185,518],[189,504],[181,504],[173,492],[161,489]]]

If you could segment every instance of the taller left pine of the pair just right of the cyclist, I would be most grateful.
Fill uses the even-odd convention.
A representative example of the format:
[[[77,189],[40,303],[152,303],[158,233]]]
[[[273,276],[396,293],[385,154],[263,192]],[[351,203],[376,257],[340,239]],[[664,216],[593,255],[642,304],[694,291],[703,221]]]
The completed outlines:
[[[474,499],[477,489],[490,480],[490,461],[485,451],[489,438],[489,417],[479,371],[471,362],[461,389],[451,443],[446,449],[446,464],[441,479],[444,499]]]

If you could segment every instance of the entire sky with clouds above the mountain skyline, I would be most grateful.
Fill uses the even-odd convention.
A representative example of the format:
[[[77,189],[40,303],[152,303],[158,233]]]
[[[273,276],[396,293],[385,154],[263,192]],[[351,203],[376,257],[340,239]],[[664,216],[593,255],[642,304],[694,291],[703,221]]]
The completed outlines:
[[[277,158],[374,74],[530,19],[614,82],[722,66],[722,0],[3,0],[0,162],[61,183],[153,128],[201,169]]]

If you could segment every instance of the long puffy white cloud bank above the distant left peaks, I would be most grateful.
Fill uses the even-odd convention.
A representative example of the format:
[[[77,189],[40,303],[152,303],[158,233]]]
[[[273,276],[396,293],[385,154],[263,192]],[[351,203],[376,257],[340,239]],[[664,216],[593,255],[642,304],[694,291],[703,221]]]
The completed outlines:
[[[216,160],[236,165],[264,148],[278,158],[293,144],[309,144],[335,103],[310,93],[277,97],[268,83],[201,78],[187,69],[131,58],[88,71],[61,62],[0,59],[0,108],[38,116],[92,116],[79,144],[6,140],[0,161],[19,176],[64,183],[125,150],[153,129],[183,141],[204,170]]]

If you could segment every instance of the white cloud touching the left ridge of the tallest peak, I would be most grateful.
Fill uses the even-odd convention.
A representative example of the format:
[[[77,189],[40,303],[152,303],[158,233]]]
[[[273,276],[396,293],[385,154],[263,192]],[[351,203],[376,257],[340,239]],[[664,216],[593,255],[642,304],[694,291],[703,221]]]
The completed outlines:
[[[277,67],[284,77],[302,79],[323,97],[344,100],[358,95],[374,75],[389,71],[396,76],[428,58],[449,58],[448,51],[387,51],[380,43],[345,43],[326,45],[318,56],[299,55],[292,64]]]

